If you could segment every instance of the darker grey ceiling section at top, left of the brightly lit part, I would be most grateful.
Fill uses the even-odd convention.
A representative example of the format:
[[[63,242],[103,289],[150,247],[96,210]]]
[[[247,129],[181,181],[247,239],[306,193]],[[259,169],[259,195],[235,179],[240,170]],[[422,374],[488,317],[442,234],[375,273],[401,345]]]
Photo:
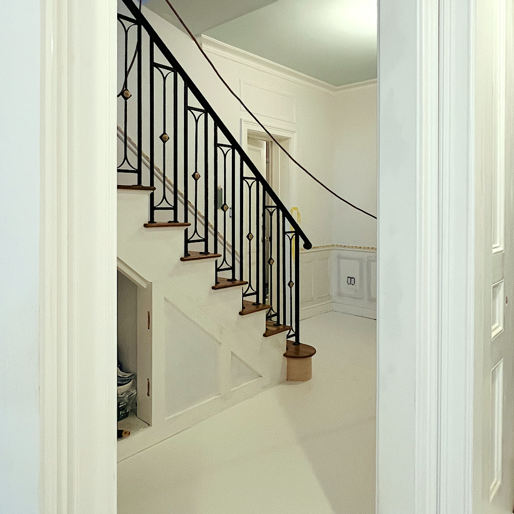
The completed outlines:
[[[277,0],[170,0],[195,36],[273,2]],[[185,32],[165,0],[143,0],[143,3],[145,7]]]

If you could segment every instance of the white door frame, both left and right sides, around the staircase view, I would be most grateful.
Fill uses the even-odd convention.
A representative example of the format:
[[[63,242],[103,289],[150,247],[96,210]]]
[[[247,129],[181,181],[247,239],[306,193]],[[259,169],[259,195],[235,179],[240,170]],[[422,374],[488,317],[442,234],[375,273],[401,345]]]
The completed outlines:
[[[42,3],[45,514],[116,512],[116,403],[105,394],[116,359],[105,344],[116,340],[116,175],[105,171],[116,164],[116,4]],[[383,514],[471,511],[473,12],[466,0],[379,5]]]

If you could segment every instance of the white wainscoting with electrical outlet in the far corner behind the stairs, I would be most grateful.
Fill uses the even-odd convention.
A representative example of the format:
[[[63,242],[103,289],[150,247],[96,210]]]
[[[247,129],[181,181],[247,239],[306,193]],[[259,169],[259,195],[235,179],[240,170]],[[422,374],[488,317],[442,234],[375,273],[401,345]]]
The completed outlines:
[[[376,319],[376,249],[318,247],[303,250],[300,260],[301,319],[332,310]]]

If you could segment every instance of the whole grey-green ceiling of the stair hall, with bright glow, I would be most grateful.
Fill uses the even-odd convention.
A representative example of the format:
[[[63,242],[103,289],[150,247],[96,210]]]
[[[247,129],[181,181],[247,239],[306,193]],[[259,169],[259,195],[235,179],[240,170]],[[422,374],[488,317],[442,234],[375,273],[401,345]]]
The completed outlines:
[[[376,0],[173,3],[194,34],[204,33],[328,84],[377,77]],[[145,5],[176,24],[164,0]]]

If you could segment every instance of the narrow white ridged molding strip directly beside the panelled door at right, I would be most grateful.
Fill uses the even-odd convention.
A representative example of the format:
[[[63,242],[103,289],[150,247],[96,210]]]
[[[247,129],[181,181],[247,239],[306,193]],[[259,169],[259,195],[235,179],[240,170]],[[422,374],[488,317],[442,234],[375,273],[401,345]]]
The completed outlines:
[[[472,511],[474,6],[440,3],[439,330],[441,514]],[[490,291],[490,289],[489,289]]]

